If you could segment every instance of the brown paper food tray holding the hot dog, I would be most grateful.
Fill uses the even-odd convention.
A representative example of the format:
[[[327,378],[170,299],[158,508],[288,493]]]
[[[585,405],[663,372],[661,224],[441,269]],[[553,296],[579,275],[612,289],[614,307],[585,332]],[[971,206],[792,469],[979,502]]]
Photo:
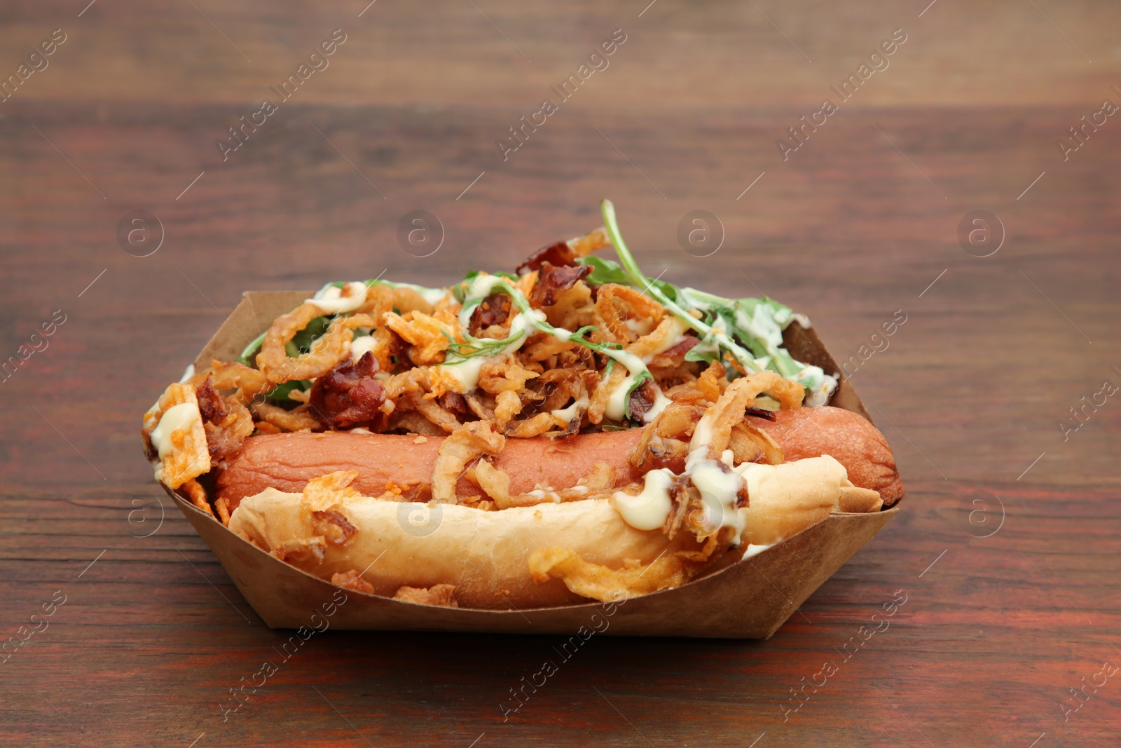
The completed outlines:
[[[206,343],[195,369],[213,359],[232,361],[244,345],[280,314],[295,308],[313,292],[245,292],[241,303]],[[839,371],[813,329],[797,323],[787,329],[786,345],[799,361]],[[860,397],[844,378],[832,405],[868,417]],[[869,418],[870,419],[870,418]],[[163,486],[163,483],[160,483]],[[229,532],[191,504],[172,496],[198,535],[270,628],[312,625],[339,588]],[[724,565],[683,587],[632,598],[613,608],[603,634],[622,636],[688,636],[769,638],[806,598],[856,553],[898,508],[877,514],[833,514],[762,553]],[[341,629],[485,631],[501,634],[576,634],[602,626],[604,603],[521,610],[443,608],[346,591],[331,626]],[[593,616],[599,618],[593,620]]]

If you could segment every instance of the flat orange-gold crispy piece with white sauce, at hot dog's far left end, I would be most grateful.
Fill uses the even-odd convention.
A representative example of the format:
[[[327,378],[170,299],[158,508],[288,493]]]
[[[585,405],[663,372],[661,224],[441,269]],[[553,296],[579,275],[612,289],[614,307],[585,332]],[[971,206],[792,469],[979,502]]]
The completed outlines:
[[[174,382],[167,386],[151,408],[143,415],[143,428],[147,453],[155,459],[158,454],[151,443],[151,433],[159,426],[164,414],[175,406],[183,405],[187,417],[179,428],[169,434],[163,434],[165,443],[170,447],[159,458],[157,479],[169,488],[179,488],[192,478],[202,475],[211,468],[210,447],[206,442],[206,430],[203,427],[202,414],[198,413],[198,398],[191,385]],[[191,410],[194,413],[192,414]],[[165,430],[172,424],[165,425]],[[161,431],[163,433],[163,431]],[[209,509],[207,509],[209,511]]]

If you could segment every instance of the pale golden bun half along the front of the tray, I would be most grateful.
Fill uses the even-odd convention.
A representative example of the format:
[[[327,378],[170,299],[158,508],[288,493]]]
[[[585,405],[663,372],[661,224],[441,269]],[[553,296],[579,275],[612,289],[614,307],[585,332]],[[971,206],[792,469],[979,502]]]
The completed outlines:
[[[336,475],[314,483],[331,484]],[[880,508],[879,497],[852,487],[828,456],[748,465],[745,478],[752,493],[751,507],[739,509],[749,512],[745,543],[777,543],[853,502]],[[304,493],[269,488],[244,498],[230,529],[315,576],[360,576],[369,585],[362,591],[386,597],[402,587],[450,584],[467,608],[612,600],[676,587],[722,560],[701,553],[704,542],[689,533],[636,529],[606,498],[484,511],[325,493],[314,483]],[[703,557],[691,563],[679,555]]]

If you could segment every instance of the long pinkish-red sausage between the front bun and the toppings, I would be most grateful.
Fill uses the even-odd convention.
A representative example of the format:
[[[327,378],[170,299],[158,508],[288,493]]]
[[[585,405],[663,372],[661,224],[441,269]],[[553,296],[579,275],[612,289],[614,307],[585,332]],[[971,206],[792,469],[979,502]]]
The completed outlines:
[[[748,416],[782,447],[788,462],[830,454],[849,471],[860,488],[879,491],[884,506],[902,496],[902,481],[883,435],[859,414],[816,407],[780,410],[776,419]],[[494,464],[510,477],[510,493],[525,493],[539,484],[554,490],[571,488],[592,472],[595,462],[615,469],[620,482],[640,478],[627,462],[642,430],[578,434],[566,438],[510,438]],[[266,488],[299,492],[308,480],[336,470],[358,470],[352,483],[364,496],[380,496],[389,484],[406,499],[430,498],[432,472],[444,437],[398,434],[308,432],[266,434],[245,440],[241,451],[217,471],[217,497],[232,511],[241,499]],[[458,496],[478,493],[460,479]]]

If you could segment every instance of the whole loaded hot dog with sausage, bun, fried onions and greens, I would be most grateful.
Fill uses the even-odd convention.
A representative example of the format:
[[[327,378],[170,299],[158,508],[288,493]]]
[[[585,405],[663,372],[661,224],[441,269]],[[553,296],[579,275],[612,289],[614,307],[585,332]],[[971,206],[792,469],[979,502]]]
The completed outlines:
[[[782,348],[808,322],[647,278],[603,215],[517,275],[324,286],[145,414],[157,480],[335,584],[478,608],[677,587],[899,500],[883,435]]]

